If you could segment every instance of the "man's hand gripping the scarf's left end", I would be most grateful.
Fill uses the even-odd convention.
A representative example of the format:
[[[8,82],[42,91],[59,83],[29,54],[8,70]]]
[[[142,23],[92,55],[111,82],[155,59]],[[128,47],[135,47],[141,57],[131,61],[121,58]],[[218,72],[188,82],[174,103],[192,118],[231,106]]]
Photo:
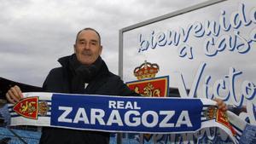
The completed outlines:
[[[21,98],[23,98],[23,95],[20,87],[15,85],[8,90],[8,92],[5,94],[5,97],[10,103],[15,104],[16,102],[19,102]]]

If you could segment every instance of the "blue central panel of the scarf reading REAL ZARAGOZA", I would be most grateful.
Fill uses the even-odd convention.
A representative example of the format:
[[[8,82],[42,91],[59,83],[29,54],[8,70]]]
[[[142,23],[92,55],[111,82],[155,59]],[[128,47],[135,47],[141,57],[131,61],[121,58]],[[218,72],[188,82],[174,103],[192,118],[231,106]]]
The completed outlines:
[[[195,131],[201,129],[202,107],[199,99],[53,94],[50,125],[126,132]]]

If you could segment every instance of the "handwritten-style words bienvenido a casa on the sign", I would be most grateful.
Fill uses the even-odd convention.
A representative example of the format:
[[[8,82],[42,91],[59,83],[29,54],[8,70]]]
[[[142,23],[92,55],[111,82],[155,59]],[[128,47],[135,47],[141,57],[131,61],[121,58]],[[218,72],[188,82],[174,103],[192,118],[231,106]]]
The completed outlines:
[[[193,32],[194,37],[206,37],[203,43],[203,50],[207,56],[218,55],[219,52],[225,49],[229,51],[236,50],[239,54],[246,54],[251,49],[251,43],[256,42],[256,29],[250,32],[249,38],[242,36],[239,31],[234,31],[233,34],[222,35],[220,37],[220,30],[229,32],[230,28],[239,29],[241,26],[250,26],[252,23],[256,23],[256,8],[250,10],[250,13],[246,13],[244,3],[239,3],[238,9],[230,14],[230,19],[227,19],[225,10],[221,10],[218,22],[214,20],[206,20],[204,24],[196,21],[193,25],[189,24],[186,29],[180,27],[178,32],[168,30],[166,32],[159,32],[155,35],[152,31],[149,38],[143,38],[143,35],[139,35],[139,49],[138,52],[143,52],[148,49],[155,49],[157,46],[165,47],[167,44],[178,46],[178,56],[187,57],[190,60],[195,58],[192,53],[192,46],[189,43],[189,35]],[[193,29],[193,31],[191,31]],[[183,42],[183,43],[180,43]]]

